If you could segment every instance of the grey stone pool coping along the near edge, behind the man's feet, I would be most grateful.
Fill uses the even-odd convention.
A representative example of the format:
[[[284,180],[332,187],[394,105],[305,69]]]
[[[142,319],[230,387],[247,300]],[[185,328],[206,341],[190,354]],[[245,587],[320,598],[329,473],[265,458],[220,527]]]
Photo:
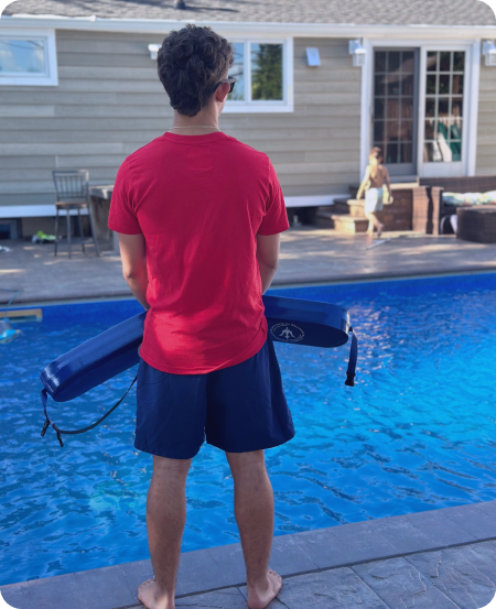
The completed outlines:
[[[493,540],[496,500],[277,536],[270,566],[288,578]],[[139,561],[1,586],[0,595],[15,609],[128,609],[141,606],[137,588],[152,576],[151,562]],[[245,584],[239,543],[181,555],[177,598]]]

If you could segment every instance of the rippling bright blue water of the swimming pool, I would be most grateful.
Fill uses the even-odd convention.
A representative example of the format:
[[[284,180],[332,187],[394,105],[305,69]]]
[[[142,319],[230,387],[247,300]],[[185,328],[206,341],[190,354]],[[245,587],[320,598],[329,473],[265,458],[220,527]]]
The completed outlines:
[[[496,498],[496,274],[274,290],[349,309],[348,348],[277,344],[296,437],[267,453],[276,534]],[[151,458],[132,447],[134,392],[104,425],[42,439],[40,370],[139,312],[132,302],[50,306],[41,324],[0,345],[0,584],[147,558]],[[134,370],[71,404],[62,428],[91,423]],[[238,541],[233,479],[204,446],[187,483],[183,550]]]

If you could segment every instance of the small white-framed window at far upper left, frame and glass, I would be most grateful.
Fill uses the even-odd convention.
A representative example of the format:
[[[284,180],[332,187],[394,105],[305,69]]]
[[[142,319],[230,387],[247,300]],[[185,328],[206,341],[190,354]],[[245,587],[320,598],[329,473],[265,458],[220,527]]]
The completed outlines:
[[[0,36],[0,85],[57,84],[53,31],[15,32]]]

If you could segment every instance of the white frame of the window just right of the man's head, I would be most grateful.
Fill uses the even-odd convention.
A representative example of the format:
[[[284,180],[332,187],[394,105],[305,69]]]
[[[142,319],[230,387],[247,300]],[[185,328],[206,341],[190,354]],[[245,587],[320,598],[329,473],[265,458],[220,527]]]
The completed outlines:
[[[234,37],[231,43],[245,45],[245,99],[228,99],[224,113],[294,112],[293,39]],[[251,99],[251,44],[282,44],[282,100]]]

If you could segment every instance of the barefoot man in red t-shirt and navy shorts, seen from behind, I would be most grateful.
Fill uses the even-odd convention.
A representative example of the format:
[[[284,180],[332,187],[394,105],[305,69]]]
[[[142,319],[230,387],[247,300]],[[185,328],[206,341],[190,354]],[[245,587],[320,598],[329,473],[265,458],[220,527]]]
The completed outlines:
[[[233,57],[208,28],[165,39],[159,76],[173,127],[123,162],[110,208],[123,275],[148,309],[134,443],[153,455],[147,523],[155,578],[138,592],[148,609],[174,608],[185,481],[205,438],[233,471],[248,606],[267,607],[282,586],[268,568],[273,496],[263,449],[294,428],[261,296],[289,224],[268,156],[218,128]]]

